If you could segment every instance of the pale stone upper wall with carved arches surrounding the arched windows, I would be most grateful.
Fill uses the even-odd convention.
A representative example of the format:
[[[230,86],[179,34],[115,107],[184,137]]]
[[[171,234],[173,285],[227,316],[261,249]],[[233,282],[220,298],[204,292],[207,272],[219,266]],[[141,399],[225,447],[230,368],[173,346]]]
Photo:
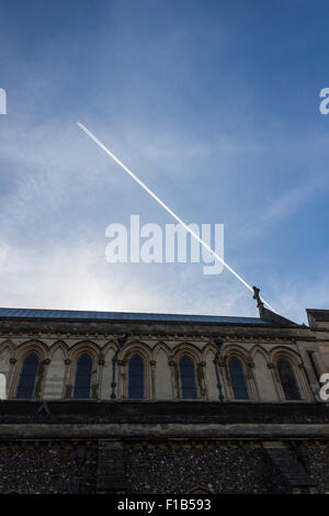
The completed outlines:
[[[223,344],[220,351],[218,341]],[[87,397],[125,400],[129,359],[137,354],[144,360],[146,400],[182,397],[180,360],[188,356],[194,363],[196,394],[202,401],[218,401],[219,395],[235,399],[228,371],[229,359],[235,357],[241,363],[250,400],[285,402],[275,368],[279,358],[285,357],[300,397],[311,402],[317,400],[319,385],[308,351],[316,349],[306,326],[260,319],[246,326],[241,322],[0,319],[0,372],[7,379],[8,399],[15,397],[22,366],[33,352],[39,360],[35,399],[71,399],[78,359],[87,354],[92,360]]]

